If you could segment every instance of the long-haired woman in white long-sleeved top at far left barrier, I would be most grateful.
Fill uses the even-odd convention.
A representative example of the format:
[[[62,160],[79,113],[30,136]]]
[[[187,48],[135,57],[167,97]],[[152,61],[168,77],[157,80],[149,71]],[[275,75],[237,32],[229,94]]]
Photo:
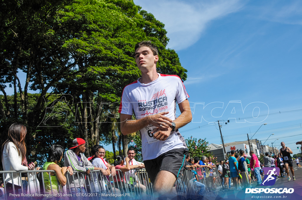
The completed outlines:
[[[25,135],[27,128],[21,123],[13,123],[8,129],[8,138],[2,145],[2,165],[4,171],[34,170],[34,163],[27,164]],[[19,177],[19,173],[7,173],[5,177],[7,192],[13,193],[13,185],[16,192],[26,193],[26,177]]]

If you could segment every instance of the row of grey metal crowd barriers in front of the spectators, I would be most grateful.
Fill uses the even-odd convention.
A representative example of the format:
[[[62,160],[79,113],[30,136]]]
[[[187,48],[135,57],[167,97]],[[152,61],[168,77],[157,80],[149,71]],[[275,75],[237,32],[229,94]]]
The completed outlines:
[[[208,168],[196,168],[194,169],[198,174],[198,181],[206,186],[206,192],[215,192],[222,189],[221,180],[217,168],[213,170],[208,170]],[[43,199],[44,197],[78,197],[82,199],[83,197],[88,197],[88,199],[100,199],[108,198],[113,199],[115,197],[121,197],[122,199],[154,199],[153,187],[150,183],[150,179],[145,169],[133,169],[128,173],[131,174],[132,180],[129,181],[126,177],[126,182],[117,182],[118,180],[124,179],[124,175],[121,176],[121,171],[116,170],[116,176],[104,176],[100,170],[93,170],[90,175],[85,172],[73,171],[73,175],[66,173],[66,185],[61,186],[59,180],[56,179],[57,185],[59,186],[57,190],[54,190],[50,184],[50,192],[47,192],[44,185],[45,172],[48,172],[49,180],[51,182],[50,172],[55,173],[53,170],[26,170],[26,171],[0,171],[0,176],[2,177],[4,183],[4,195],[5,199],[10,199],[12,194],[31,194],[31,196],[26,196],[26,199],[31,198],[34,200]],[[127,173],[127,172],[126,172]],[[5,177],[9,174],[11,177],[17,176],[20,182],[22,179],[28,181],[27,188],[14,185],[12,179],[12,190],[10,190],[11,195],[7,191],[7,183],[4,181]],[[24,177],[25,176],[25,177]],[[55,176],[56,177],[56,176]],[[214,181],[215,180],[215,181]],[[75,183],[81,187],[75,188]],[[16,188],[15,188],[16,187]],[[72,189],[73,188],[73,189]],[[196,187],[195,177],[190,169],[183,170],[183,173],[179,175],[176,181],[175,189],[177,195],[185,196],[186,198],[194,198],[198,194],[198,189]],[[71,191],[73,190],[73,191]],[[85,194],[85,195],[84,195]],[[22,195],[20,195],[22,199]],[[24,195],[23,195],[24,198]],[[66,198],[66,199],[67,199]]]

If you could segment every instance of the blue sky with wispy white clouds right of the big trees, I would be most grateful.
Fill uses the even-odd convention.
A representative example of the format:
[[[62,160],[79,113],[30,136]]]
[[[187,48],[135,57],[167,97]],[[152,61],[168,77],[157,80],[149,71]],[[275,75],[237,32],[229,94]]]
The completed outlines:
[[[274,133],[266,145],[275,142],[281,148],[284,141],[298,153],[300,145],[295,142],[302,140],[302,112],[284,112],[302,109],[302,2],[134,2],[165,24],[168,47],[188,70],[184,84],[194,113],[193,122],[180,130],[185,138],[221,144],[218,126],[207,124],[230,118],[227,125],[222,123],[225,142],[247,140],[247,133],[251,137],[267,123],[253,139],[264,142]],[[241,104],[228,106],[230,101]],[[223,104],[203,109],[196,102]],[[243,113],[240,105],[249,106]],[[258,113],[266,116],[257,117]],[[249,122],[231,119],[252,116]],[[201,128],[191,130],[197,127]]]

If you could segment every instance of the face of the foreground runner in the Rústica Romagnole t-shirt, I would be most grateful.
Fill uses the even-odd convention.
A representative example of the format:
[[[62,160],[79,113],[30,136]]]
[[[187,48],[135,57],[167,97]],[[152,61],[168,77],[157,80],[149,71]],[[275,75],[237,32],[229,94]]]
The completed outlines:
[[[143,46],[136,49],[135,62],[140,71],[149,71],[153,67],[156,67],[157,61],[158,55],[153,55],[149,47]]]

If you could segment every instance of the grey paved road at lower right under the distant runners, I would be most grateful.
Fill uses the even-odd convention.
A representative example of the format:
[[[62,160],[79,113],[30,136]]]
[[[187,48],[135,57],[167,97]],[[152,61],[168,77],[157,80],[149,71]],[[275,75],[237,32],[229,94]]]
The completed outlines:
[[[257,187],[257,188],[293,188],[294,192],[292,194],[278,194],[278,193],[265,193],[265,192],[261,192],[261,193],[249,193],[246,194],[245,190],[240,190],[240,191],[229,191],[229,192],[217,192],[215,194],[208,194],[204,196],[204,200],[218,200],[218,199],[227,199],[227,200],[233,200],[233,199],[248,199],[248,200],[256,200],[256,199],[278,199],[278,200],[300,200],[302,199],[302,168],[300,167],[300,169],[298,169],[296,167],[296,164],[294,163],[294,174],[296,177],[296,180],[293,181],[293,179],[291,179],[290,181],[287,180],[287,175],[285,175],[286,177],[284,178],[278,178],[276,180],[276,183],[273,186],[261,186],[261,187]],[[291,172],[290,172],[290,176],[292,178]],[[262,177],[263,180],[264,177]],[[255,186],[255,185],[253,185]]]

